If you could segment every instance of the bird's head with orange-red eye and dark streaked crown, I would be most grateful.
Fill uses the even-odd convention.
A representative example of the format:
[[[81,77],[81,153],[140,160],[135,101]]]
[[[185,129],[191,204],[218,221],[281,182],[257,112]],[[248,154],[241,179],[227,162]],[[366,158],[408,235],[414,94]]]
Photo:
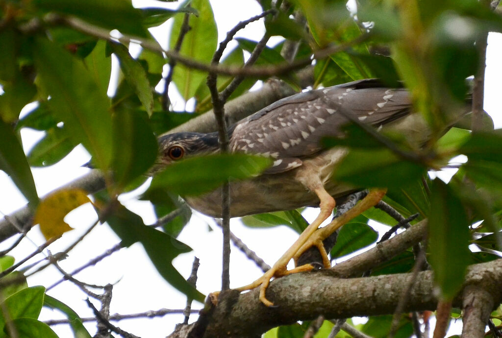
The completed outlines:
[[[159,137],[159,155],[150,173],[155,174],[167,165],[183,158],[218,151],[217,133],[178,132]]]

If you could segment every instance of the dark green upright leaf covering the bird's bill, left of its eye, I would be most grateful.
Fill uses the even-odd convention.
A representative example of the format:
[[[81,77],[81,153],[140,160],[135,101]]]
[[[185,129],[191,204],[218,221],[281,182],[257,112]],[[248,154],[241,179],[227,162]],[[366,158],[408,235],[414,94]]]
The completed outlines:
[[[144,174],[157,158],[157,138],[143,114],[119,110],[113,116],[112,168],[119,189]]]

